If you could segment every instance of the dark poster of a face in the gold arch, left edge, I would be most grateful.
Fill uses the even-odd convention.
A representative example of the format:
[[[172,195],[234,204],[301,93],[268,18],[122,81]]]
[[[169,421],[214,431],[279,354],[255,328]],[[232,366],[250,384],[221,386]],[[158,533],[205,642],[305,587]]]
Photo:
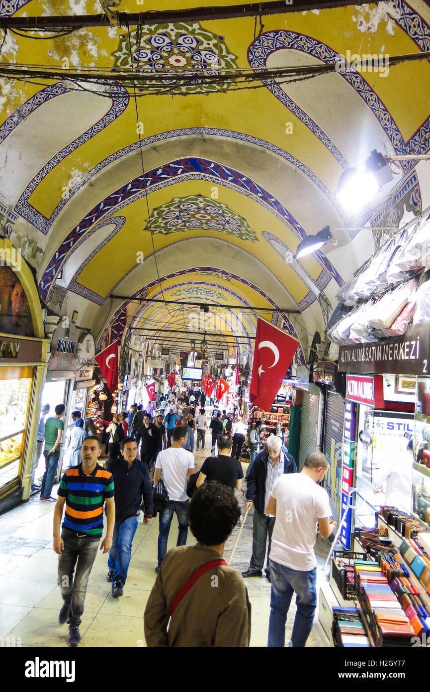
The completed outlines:
[[[15,336],[34,336],[26,292],[10,266],[0,266],[0,331]]]

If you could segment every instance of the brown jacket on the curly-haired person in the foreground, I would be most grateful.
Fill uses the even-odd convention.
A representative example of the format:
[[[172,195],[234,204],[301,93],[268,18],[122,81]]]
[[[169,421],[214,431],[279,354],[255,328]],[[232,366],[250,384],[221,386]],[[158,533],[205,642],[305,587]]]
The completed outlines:
[[[232,567],[221,565],[200,576],[169,623],[171,601],[191,574],[219,559],[216,551],[200,544],[169,550],[144,612],[147,646],[250,646],[251,605],[242,576]]]

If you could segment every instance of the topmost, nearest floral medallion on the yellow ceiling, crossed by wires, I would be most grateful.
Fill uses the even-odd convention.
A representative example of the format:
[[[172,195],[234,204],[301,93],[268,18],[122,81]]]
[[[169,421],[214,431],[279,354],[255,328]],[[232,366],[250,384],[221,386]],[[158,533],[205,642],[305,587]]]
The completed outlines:
[[[130,39],[133,62],[127,33],[120,37],[118,49],[112,53],[114,69],[133,66],[137,72],[156,71],[166,76],[161,83],[157,80],[153,86],[145,87],[148,91],[201,93],[202,81],[199,77],[202,71],[205,71],[205,75],[218,75],[220,69],[237,67],[236,55],[230,53],[223,36],[203,29],[198,22],[143,26],[141,35],[137,30],[131,31]],[[176,80],[169,79],[169,75],[177,74],[178,70],[195,79],[175,86]],[[224,82],[205,84],[204,91],[225,91],[228,86]]]

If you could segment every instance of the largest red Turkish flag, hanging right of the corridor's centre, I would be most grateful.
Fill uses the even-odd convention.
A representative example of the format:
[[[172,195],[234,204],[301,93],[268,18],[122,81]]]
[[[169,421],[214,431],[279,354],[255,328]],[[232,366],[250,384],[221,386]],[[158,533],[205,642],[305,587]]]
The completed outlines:
[[[250,385],[250,401],[255,406],[270,410],[298,347],[290,334],[258,318]]]

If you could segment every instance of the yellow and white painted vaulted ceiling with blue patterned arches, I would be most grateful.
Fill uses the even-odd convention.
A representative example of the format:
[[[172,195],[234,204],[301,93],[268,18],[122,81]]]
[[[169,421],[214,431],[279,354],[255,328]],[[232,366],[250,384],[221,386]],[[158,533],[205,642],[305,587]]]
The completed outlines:
[[[138,5],[122,0],[120,10],[171,9],[169,0]],[[0,17],[101,11],[95,0],[0,0]],[[373,252],[370,230],[348,229],[395,224],[430,204],[428,163],[416,161],[402,162],[353,218],[335,197],[342,171],[371,149],[428,152],[429,62],[388,70],[383,57],[429,51],[429,24],[428,2],[394,0],[262,21],[82,28],[50,40],[2,32],[3,64],[113,75],[133,64],[165,77],[136,91],[116,82],[109,95],[102,83],[66,75],[0,80],[0,202],[12,210],[10,239],[36,268],[43,300],[62,314],[78,310],[100,343],[129,327],[135,340],[175,346],[155,330],[184,329],[191,308],[131,300],[141,297],[217,304],[224,314],[241,305],[242,336],[256,323],[245,308],[267,308],[259,314],[310,343],[324,331],[317,295],[335,307],[339,286]],[[252,89],[199,80],[221,68],[333,64],[348,51],[381,55],[380,69]],[[195,78],[177,84],[169,71]],[[333,232],[337,246],[295,260],[300,240],[327,225],[343,229]]]

